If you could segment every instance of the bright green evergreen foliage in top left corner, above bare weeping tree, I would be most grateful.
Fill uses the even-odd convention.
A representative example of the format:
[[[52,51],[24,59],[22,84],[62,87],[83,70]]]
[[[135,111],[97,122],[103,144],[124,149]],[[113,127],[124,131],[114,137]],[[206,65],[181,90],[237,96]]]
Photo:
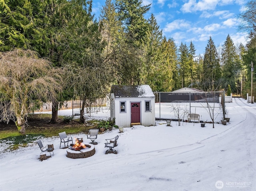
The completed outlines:
[[[34,49],[38,43],[47,43],[42,38],[42,26],[47,23],[44,17],[45,3],[40,0],[5,0],[0,2],[0,51],[17,47]]]

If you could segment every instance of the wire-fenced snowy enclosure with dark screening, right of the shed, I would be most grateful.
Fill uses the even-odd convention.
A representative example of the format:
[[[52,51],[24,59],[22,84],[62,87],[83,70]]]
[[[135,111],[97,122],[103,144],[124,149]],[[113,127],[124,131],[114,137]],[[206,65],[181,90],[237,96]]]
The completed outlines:
[[[177,120],[175,110],[180,109],[182,120],[186,120],[189,113],[197,113],[200,120],[220,122],[225,116],[225,92],[174,93],[156,92],[156,119]],[[232,98],[231,98],[232,100]]]

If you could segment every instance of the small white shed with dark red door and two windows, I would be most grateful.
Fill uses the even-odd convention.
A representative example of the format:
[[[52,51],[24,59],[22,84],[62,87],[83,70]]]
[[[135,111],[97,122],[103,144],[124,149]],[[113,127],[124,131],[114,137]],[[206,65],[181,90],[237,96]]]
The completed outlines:
[[[116,125],[155,125],[155,95],[149,85],[112,85],[110,118]]]

